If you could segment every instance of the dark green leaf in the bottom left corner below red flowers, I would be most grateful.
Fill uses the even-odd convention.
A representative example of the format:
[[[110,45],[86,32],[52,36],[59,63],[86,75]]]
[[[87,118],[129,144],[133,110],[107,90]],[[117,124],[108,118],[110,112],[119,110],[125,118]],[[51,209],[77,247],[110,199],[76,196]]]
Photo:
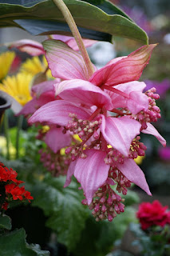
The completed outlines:
[[[1,235],[0,252],[3,256],[49,256],[49,252],[42,251],[38,246],[30,246],[26,243],[26,232],[24,229],[14,230],[8,234]]]

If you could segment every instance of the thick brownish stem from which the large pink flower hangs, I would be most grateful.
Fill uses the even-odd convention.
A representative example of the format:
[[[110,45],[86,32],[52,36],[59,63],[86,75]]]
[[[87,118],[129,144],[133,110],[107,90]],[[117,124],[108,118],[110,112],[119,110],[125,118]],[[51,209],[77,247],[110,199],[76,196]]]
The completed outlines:
[[[87,66],[89,77],[93,74],[93,64],[90,61],[89,54],[87,53],[87,50],[85,49],[85,45],[83,43],[83,40],[81,38],[81,34],[79,33],[76,23],[74,22],[73,16],[70,14],[69,9],[67,6],[65,6],[65,3],[62,0],[53,0],[55,5],[59,10],[61,10],[61,13],[63,14],[65,21],[69,25],[69,29],[71,30],[73,37],[75,38],[77,42],[77,46],[79,47],[79,50],[81,52],[82,57],[84,58],[85,65]]]

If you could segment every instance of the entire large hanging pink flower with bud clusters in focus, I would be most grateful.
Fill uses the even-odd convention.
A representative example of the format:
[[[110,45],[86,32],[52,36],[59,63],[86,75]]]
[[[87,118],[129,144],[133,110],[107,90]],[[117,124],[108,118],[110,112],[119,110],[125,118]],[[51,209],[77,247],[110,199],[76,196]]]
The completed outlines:
[[[159,95],[154,88],[143,93],[144,82],[136,81],[156,45],[115,58],[91,77],[81,54],[64,42],[47,40],[43,46],[53,77],[61,81],[53,82],[57,98],[35,111],[29,122],[60,127],[63,136],[78,134],[81,142],[65,150],[72,160],[65,186],[74,175],[85,194],[82,203],[97,220],[112,221],[124,211],[119,194],[127,194],[132,182],[151,194],[133,160],[145,154],[140,132],[166,144],[151,124],[160,118]]]

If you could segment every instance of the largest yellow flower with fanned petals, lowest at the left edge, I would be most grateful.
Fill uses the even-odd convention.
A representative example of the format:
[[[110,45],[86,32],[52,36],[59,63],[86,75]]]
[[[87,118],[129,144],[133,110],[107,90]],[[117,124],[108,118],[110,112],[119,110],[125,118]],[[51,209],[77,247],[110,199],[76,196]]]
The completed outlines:
[[[18,73],[16,76],[8,76],[0,83],[0,90],[10,94],[17,102],[24,106],[31,100],[30,82],[33,76],[31,74]]]

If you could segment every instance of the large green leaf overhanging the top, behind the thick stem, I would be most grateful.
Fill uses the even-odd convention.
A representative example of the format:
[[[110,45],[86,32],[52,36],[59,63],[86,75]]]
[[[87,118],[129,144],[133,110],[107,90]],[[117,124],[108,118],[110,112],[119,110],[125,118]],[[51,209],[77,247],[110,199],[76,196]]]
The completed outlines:
[[[10,0],[0,3],[0,26],[18,26],[31,34],[65,34],[69,27],[53,0]],[[93,2],[93,1],[90,1]],[[15,3],[15,4],[14,4]],[[97,1],[98,3],[98,1]],[[110,40],[111,35],[148,43],[147,34],[117,6],[103,0],[95,6],[79,0],[65,0],[81,34],[87,38]],[[102,10],[103,9],[103,10]],[[64,32],[63,32],[64,31]]]

